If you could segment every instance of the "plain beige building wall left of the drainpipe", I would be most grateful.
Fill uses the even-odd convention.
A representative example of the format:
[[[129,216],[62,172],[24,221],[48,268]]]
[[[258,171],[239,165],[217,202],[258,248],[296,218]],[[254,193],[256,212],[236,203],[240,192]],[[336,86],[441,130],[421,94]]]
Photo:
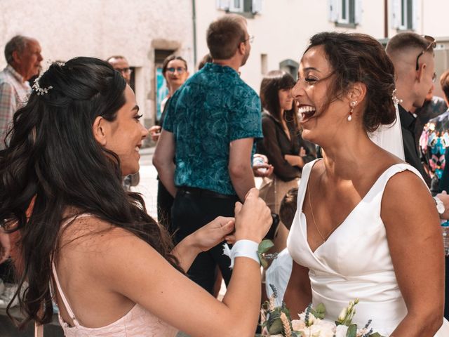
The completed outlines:
[[[47,60],[121,54],[136,69],[145,124],[154,117],[154,49],[177,49],[193,66],[192,3],[188,0],[1,0],[0,50],[15,34],[39,40]],[[6,65],[0,57],[0,66]]]

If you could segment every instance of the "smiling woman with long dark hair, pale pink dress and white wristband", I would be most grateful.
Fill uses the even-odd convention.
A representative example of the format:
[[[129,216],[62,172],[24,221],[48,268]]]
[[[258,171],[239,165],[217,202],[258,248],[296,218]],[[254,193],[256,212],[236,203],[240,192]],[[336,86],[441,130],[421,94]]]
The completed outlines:
[[[173,327],[250,336],[269,209],[251,190],[235,226],[217,218],[172,249],[142,197],[121,187],[139,169],[148,134],[139,118],[125,80],[95,58],[51,65],[15,113],[0,157],[0,219],[20,233],[22,326],[50,322],[53,299],[66,336],[173,336]],[[234,273],[219,302],[182,270],[226,237],[236,239]]]

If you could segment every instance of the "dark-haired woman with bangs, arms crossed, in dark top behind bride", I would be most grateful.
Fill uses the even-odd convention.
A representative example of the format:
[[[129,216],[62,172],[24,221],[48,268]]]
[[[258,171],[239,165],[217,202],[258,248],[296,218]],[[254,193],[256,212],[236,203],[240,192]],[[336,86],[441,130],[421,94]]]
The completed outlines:
[[[302,140],[297,123],[297,108],[293,104],[291,89],[293,77],[282,70],[269,72],[260,84],[262,100],[262,131],[264,138],[257,143],[257,152],[268,157],[274,173],[263,178],[260,196],[273,213],[279,213],[281,200],[297,187],[302,166],[316,157],[315,147]],[[276,229],[275,250],[286,248],[288,230],[282,222]]]

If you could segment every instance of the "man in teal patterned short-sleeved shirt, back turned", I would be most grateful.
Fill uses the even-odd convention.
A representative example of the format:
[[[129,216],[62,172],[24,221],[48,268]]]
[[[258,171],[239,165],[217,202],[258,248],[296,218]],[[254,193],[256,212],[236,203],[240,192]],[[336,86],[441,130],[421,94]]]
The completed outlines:
[[[234,216],[236,201],[255,186],[251,159],[254,139],[262,138],[260,98],[239,77],[251,39],[240,15],[212,22],[207,44],[213,62],[187,79],[166,107],[153,162],[175,197],[177,242],[217,216]],[[200,253],[188,275],[212,293],[215,266],[227,284],[229,262],[219,244]]]

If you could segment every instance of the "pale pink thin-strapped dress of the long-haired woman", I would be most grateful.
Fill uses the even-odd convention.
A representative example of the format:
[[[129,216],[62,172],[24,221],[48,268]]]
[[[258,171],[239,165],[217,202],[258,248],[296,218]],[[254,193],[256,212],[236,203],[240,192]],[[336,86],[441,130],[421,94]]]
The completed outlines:
[[[92,216],[91,214],[81,214],[77,218]],[[68,223],[74,220],[75,217],[65,221],[62,228]],[[64,303],[65,309],[69,316],[72,318],[74,326],[69,326],[67,322],[64,322],[60,313],[58,313],[59,322],[64,330],[64,334],[67,337],[122,337],[122,336],[135,336],[135,337],[172,337],[176,336],[177,330],[173,326],[163,322],[158,317],[152,315],[151,312],[143,308],[142,306],[135,304],[126,315],[117,319],[115,322],[102,326],[100,328],[87,328],[81,326],[76,319],[72,308],[69,305],[69,301],[64,295],[61,289],[58,279],[58,273],[56,272],[55,261],[51,263],[53,270],[53,277],[55,285],[58,288],[62,303]]]

